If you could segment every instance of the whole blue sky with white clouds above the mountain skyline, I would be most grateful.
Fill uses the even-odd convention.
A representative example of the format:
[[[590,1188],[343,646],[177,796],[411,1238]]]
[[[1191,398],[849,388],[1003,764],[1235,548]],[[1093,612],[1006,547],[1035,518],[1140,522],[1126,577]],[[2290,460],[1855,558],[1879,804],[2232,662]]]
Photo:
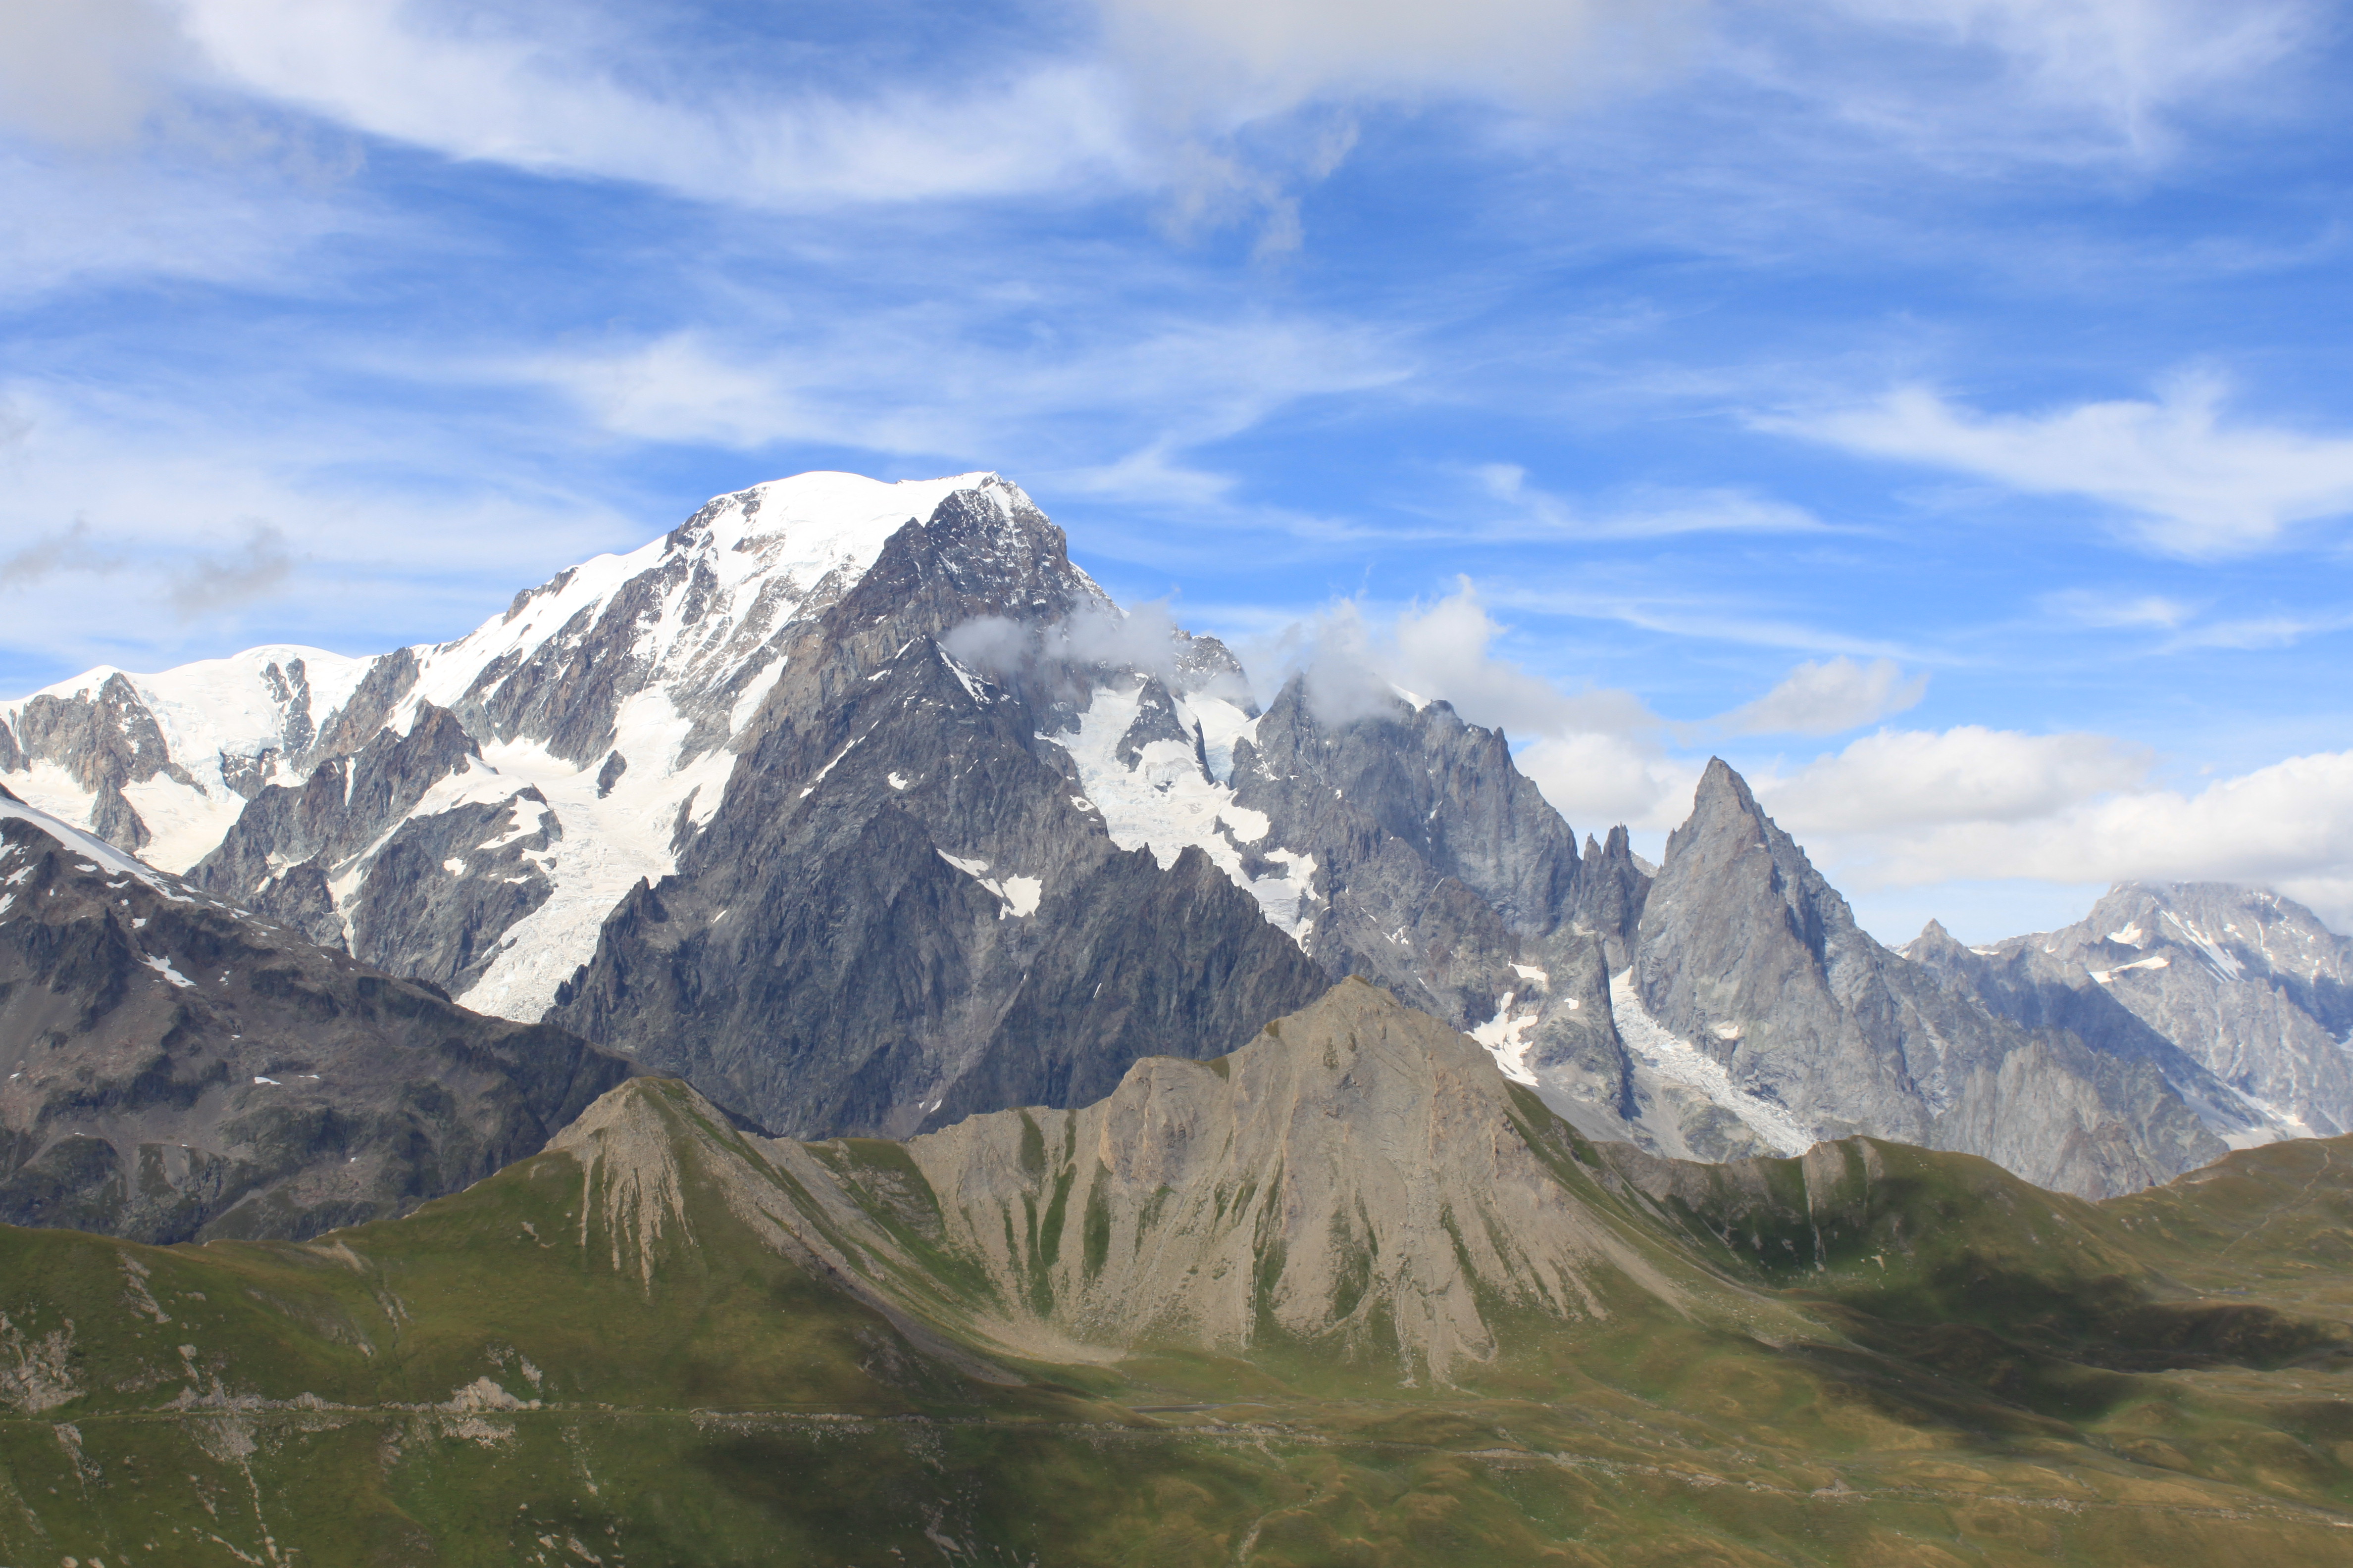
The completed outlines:
[[[0,689],[995,468],[1579,830],[1722,752],[1882,938],[2346,929],[2346,21],[0,0]]]

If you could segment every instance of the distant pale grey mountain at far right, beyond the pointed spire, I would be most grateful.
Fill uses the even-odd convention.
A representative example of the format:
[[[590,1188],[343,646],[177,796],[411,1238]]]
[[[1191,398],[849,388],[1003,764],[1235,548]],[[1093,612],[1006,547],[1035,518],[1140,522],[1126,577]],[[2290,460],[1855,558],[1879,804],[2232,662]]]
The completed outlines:
[[[1934,922],[1904,950],[2028,1027],[2158,1063],[2209,1121],[2353,1131],[2353,940],[2266,889],[2122,884],[2061,931],[1962,947]]]

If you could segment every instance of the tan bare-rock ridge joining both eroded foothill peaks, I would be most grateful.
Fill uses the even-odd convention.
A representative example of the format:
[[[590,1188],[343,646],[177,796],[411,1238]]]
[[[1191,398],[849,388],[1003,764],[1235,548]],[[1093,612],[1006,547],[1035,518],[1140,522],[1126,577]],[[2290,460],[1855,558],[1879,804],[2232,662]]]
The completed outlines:
[[[802,1145],[640,1079],[553,1147],[616,1269],[652,1279],[718,1190],[911,1338],[929,1319],[1064,1361],[1313,1345],[1442,1382],[1494,1359],[1511,1314],[1680,1314],[1720,1288],[1478,1044],[1355,978],[1226,1058],[1139,1060],[1085,1110]]]

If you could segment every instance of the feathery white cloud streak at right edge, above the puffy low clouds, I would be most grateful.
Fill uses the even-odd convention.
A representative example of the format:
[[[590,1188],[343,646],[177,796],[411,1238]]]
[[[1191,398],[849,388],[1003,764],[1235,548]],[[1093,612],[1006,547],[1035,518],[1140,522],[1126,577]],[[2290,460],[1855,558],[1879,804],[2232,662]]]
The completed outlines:
[[[2038,496],[2115,508],[2167,555],[2221,557],[2282,543],[2353,510],[2353,437],[2221,416],[2224,388],[2184,376],[2153,402],[1977,414],[1922,386],[1878,402],[1758,421],[1845,451],[1922,463]]]

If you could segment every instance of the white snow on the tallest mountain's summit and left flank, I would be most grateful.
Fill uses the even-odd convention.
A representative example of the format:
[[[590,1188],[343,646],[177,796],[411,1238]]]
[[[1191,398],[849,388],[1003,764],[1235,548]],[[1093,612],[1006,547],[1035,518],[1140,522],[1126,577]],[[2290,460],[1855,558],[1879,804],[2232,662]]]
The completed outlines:
[[[991,503],[1007,527],[1007,538],[1016,510],[1028,505],[1019,487],[991,473],[901,484],[845,473],[795,475],[715,498],[706,508],[711,515],[689,531],[664,534],[626,555],[600,555],[558,574],[456,642],[412,649],[419,679],[388,715],[395,733],[414,729],[424,703],[459,705],[492,663],[501,658],[522,663],[541,649],[553,654],[551,639],[579,637],[640,574],[671,559],[687,567],[673,574],[678,578],[673,585],[645,604],[635,623],[635,644],[626,656],[642,661],[645,686],[626,698],[616,715],[612,748],[628,759],[628,766],[607,797],[600,799],[595,790],[602,757],[574,764],[551,757],[532,741],[489,743],[482,736],[482,762],[440,780],[412,811],[433,816],[461,804],[508,802],[525,785],[536,785],[548,804],[522,802],[515,818],[485,849],[536,832],[544,811],[553,811],[560,827],[551,851],[532,853],[553,884],[551,896],[501,936],[485,976],[459,997],[466,1006],[525,1020],[548,1009],[558,983],[593,957],[605,917],[628,889],[638,879],[659,882],[678,867],[671,842],[680,811],[696,827],[718,813],[736,762],[729,741],[744,733],[784,675],[776,632],[838,602],[875,562],[892,534],[908,520],[927,520],[958,491],[972,491]],[[569,635],[567,625],[574,625]],[[906,654],[906,646],[899,654]],[[273,661],[285,668],[292,658],[304,661],[311,682],[313,724],[325,724],[344,708],[369,668],[369,661],[320,649],[264,646],[162,675],[129,677],[165,731],[172,762],[202,785],[188,790],[158,778],[129,790],[134,809],[155,835],[151,860],[169,867],[193,865],[219,844],[242,811],[245,802],[219,780],[219,757],[221,752],[252,757],[266,745],[282,750],[285,712],[268,696],[264,670]],[[744,679],[744,670],[753,675]],[[976,701],[993,696],[974,672],[962,668],[955,672]],[[87,689],[96,696],[108,675],[113,670],[92,670],[49,691],[71,696]],[[692,710],[704,693],[736,679],[741,684],[725,710],[727,733],[706,731],[696,743],[699,750],[687,755],[694,724],[682,708]],[[14,705],[0,703],[0,712],[9,708]],[[1224,731],[1212,715],[1212,748],[1219,733]],[[1231,733],[1224,736],[1224,755],[1231,759]],[[299,783],[299,778],[278,773],[271,783]],[[892,778],[894,788],[908,783],[913,780]],[[73,844],[108,865],[134,867],[118,851],[56,820],[87,823],[94,804],[92,795],[61,769],[40,764],[16,771],[7,776],[7,785],[33,804],[31,816],[49,832],[71,835]],[[816,780],[809,788],[814,790]],[[24,813],[5,802],[0,809]],[[398,832],[398,825],[388,825],[386,835],[332,882],[329,891],[339,905],[358,891],[391,832]],[[445,870],[464,875],[464,858],[454,858]],[[158,891],[184,898],[146,867],[136,867],[136,875]],[[1016,917],[1033,912],[1042,898],[1035,877],[1000,877],[993,891],[1007,914]]]

